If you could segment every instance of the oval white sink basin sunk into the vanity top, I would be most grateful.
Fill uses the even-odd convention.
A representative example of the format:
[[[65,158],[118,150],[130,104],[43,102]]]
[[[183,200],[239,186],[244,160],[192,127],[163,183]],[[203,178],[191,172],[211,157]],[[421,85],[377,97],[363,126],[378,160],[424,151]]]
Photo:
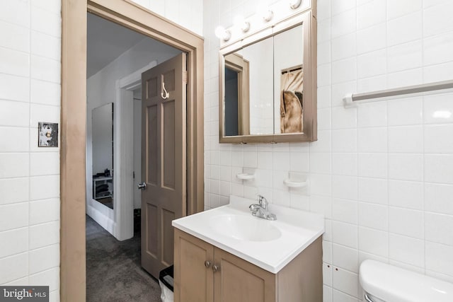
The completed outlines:
[[[271,241],[282,236],[273,222],[252,215],[229,214],[211,217],[210,226],[214,232],[237,240]]]

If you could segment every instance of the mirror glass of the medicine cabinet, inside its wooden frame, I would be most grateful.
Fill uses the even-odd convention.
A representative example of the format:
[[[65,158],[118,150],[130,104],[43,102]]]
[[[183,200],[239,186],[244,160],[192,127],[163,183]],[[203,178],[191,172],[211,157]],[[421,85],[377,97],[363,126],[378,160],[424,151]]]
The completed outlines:
[[[303,132],[298,25],[224,56],[224,136]]]

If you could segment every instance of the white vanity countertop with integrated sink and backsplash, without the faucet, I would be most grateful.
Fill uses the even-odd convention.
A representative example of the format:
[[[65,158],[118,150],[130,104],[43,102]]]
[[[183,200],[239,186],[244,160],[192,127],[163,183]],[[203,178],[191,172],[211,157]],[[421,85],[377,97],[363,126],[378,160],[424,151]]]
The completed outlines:
[[[256,200],[230,196],[229,204],[172,221],[175,228],[277,274],[324,233],[324,217],[268,204],[277,220],[253,216]]]

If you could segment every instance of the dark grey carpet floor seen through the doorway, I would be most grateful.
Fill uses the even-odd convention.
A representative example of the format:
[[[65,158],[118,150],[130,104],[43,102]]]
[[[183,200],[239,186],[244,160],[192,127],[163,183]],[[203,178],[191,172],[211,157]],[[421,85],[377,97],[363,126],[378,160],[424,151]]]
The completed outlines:
[[[161,301],[158,281],[140,265],[140,234],[118,241],[86,216],[86,301]]]

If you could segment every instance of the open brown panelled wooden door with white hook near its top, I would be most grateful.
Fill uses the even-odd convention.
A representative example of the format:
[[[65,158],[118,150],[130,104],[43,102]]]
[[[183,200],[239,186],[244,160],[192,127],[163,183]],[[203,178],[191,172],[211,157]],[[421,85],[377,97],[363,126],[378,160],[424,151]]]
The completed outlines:
[[[185,54],[142,74],[142,267],[173,264],[171,221],[186,215]]]

